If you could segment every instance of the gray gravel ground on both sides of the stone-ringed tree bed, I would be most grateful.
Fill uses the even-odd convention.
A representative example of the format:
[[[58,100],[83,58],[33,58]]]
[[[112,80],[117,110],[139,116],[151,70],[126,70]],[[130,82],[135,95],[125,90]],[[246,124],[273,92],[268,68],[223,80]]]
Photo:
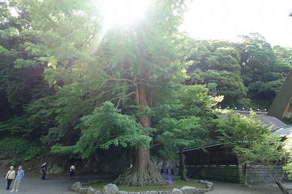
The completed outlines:
[[[86,182],[88,180],[109,179],[107,175],[82,175],[70,180],[64,176],[47,175],[46,180],[36,177],[25,177],[21,181],[17,194],[76,194],[70,191],[70,186],[77,181]],[[212,181],[212,180],[211,180]],[[278,188],[242,187],[240,184],[212,181],[214,190],[206,194],[281,194]],[[0,178],[0,194],[11,194],[6,191],[6,180]],[[13,184],[13,182],[12,182]],[[12,187],[12,185],[10,186]]]

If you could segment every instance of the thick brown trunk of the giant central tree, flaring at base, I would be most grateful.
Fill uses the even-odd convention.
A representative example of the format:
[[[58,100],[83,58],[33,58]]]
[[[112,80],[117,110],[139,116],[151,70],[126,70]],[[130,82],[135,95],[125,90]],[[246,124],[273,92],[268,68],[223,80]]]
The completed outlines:
[[[137,87],[136,100],[137,104],[141,106],[141,113],[151,105],[151,96],[146,83],[141,83]],[[150,127],[150,116],[148,114],[139,116],[139,121],[142,127]],[[133,167],[120,175],[114,183],[119,185],[146,186],[163,185],[166,183],[166,180],[161,177],[158,166],[150,161],[149,147],[137,146],[136,160]]]

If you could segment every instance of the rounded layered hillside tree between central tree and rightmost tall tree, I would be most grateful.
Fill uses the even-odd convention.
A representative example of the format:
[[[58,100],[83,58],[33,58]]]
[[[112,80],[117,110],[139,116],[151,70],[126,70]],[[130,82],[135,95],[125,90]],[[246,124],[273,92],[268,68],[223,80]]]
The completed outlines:
[[[190,58],[187,84],[205,84],[210,95],[223,95],[225,105],[236,105],[246,97],[240,75],[236,44],[228,41],[189,40]]]

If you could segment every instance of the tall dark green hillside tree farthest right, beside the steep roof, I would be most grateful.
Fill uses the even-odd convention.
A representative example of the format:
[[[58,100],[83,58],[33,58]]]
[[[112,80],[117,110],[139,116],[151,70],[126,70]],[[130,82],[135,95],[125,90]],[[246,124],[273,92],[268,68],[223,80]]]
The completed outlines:
[[[291,49],[280,46],[272,48],[258,33],[242,35],[241,38],[241,77],[249,89],[249,98],[267,109],[292,67],[289,57]]]

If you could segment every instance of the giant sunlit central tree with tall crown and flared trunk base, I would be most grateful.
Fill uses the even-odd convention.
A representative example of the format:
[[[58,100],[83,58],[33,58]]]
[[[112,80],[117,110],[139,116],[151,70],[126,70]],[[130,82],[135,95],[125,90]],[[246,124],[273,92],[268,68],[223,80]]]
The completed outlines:
[[[38,33],[41,42],[27,42],[26,50],[36,61],[48,64],[45,79],[49,84],[58,93],[70,94],[59,99],[63,107],[57,111],[59,122],[71,119],[68,111],[88,107],[81,114],[90,113],[110,100],[122,110],[130,106],[139,125],[148,129],[153,102],[185,78],[186,56],[177,34],[184,1],[156,0],[135,25],[110,29],[104,28],[99,8],[90,0],[30,2],[30,33]],[[75,106],[67,102],[71,98]],[[150,133],[145,130],[143,135]],[[133,168],[116,183],[164,184],[150,161],[149,146],[136,149]]]

